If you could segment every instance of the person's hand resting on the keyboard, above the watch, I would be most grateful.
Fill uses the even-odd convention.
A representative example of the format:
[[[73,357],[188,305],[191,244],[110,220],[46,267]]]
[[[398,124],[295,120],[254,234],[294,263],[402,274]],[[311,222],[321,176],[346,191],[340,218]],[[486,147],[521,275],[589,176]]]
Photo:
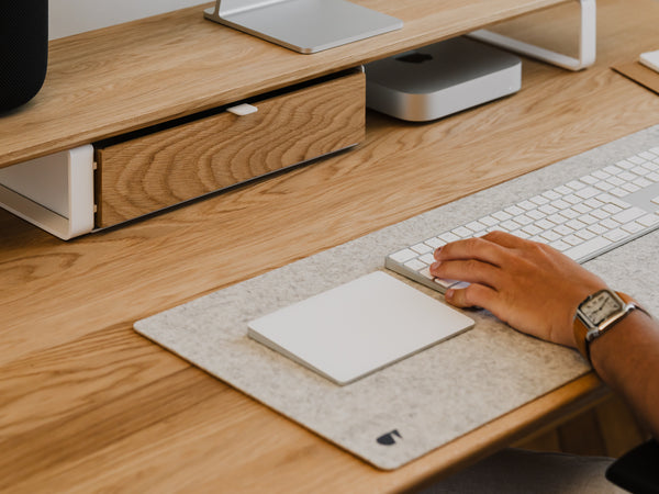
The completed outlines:
[[[449,289],[458,307],[487,308],[515,329],[574,347],[577,306],[606,283],[558,250],[503,232],[447,244],[431,273],[471,283]]]

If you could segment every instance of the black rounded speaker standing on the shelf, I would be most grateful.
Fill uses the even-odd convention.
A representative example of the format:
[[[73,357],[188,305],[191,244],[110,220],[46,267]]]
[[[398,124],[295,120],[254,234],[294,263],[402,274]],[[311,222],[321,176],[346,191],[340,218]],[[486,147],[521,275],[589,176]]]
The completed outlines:
[[[38,92],[47,64],[48,0],[0,0],[0,112]]]

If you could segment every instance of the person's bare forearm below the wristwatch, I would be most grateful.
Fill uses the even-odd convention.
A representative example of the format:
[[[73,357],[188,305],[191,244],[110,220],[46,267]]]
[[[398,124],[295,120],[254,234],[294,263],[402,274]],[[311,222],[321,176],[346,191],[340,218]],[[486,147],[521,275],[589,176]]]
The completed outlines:
[[[636,412],[659,438],[659,325],[634,311],[614,328],[593,340],[594,370]]]

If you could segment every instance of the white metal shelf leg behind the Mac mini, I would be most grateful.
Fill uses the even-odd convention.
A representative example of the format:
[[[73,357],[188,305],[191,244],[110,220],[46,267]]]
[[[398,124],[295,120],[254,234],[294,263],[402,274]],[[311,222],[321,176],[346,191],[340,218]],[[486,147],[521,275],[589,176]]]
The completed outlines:
[[[562,55],[488,30],[473,31],[469,33],[469,36],[521,55],[557,65],[568,70],[581,70],[590,67],[595,61],[597,20],[595,0],[577,1],[581,7],[579,58]]]

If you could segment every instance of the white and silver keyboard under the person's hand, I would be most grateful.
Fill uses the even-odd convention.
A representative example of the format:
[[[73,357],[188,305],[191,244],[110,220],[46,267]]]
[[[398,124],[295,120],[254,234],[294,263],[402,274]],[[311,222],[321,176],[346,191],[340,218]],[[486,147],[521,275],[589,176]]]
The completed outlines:
[[[429,273],[437,247],[495,229],[548,244],[577,262],[659,227],[659,147],[606,166],[387,256],[384,266],[439,292],[463,287]]]

